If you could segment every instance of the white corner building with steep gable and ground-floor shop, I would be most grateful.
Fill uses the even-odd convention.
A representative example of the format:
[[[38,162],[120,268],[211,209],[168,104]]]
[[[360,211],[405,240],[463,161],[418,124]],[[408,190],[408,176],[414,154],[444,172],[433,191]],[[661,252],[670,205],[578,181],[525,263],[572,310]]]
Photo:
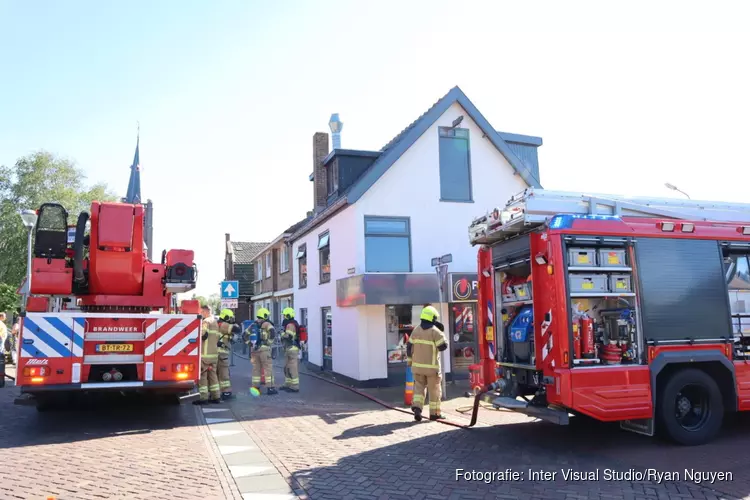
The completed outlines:
[[[476,359],[472,219],[539,183],[538,137],[497,132],[454,87],[383,149],[313,138],[315,210],[289,238],[308,361],[357,385],[403,384],[403,334],[438,306],[431,258],[452,254],[441,321],[457,378]],[[456,340],[457,339],[457,340]],[[450,376],[449,376],[450,378]]]

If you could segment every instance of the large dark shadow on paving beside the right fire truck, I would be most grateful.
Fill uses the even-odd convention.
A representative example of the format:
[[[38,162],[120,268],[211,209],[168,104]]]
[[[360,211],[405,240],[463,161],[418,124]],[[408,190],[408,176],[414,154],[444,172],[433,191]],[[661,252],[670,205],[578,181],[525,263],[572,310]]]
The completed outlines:
[[[312,499],[388,498],[483,499],[483,498],[742,498],[750,493],[743,447],[733,458],[715,457],[707,447],[686,449],[665,446],[647,437],[620,432],[617,426],[581,419],[568,428],[546,423],[508,424],[471,430],[449,429],[411,439],[409,428],[437,423],[399,423],[365,426],[335,439],[394,432],[403,441],[337,461],[335,465],[293,474]],[[722,436],[717,451],[732,433]],[[347,435],[348,434],[348,435]],[[722,444],[724,443],[724,444]],[[606,453],[602,453],[606,451]],[[636,455],[632,452],[637,451]],[[640,464],[632,458],[639,457]],[[709,458],[710,457],[710,458]],[[678,465],[680,464],[680,465]],[[684,468],[734,472],[734,480],[698,485],[684,481]],[[680,481],[633,474],[653,468],[663,473],[679,471]],[[607,476],[605,469],[612,472]],[[542,479],[530,471],[545,470],[554,476]],[[598,480],[566,480],[563,471],[598,471]],[[502,472],[506,477],[467,480],[463,473]],[[507,477],[513,471],[514,478]],[[459,477],[460,476],[460,477]],[[486,479],[483,481],[482,479]],[[511,480],[504,480],[511,479]],[[721,492],[721,493],[720,493]],[[722,494],[723,493],[723,494]],[[714,496],[710,496],[714,495]]]

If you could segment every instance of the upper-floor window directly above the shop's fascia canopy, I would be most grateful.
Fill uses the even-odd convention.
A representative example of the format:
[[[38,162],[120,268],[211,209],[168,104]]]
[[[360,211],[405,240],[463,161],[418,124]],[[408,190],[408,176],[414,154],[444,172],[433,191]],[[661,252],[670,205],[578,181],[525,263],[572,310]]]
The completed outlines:
[[[365,271],[411,272],[408,217],[365,217]]]

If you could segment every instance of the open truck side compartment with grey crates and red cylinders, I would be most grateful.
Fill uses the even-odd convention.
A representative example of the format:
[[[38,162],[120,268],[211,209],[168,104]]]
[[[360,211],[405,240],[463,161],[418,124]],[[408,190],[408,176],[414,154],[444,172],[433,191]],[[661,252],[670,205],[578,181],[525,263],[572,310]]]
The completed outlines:
[[[631,238],[565,235],[571,366],[645,362]]]

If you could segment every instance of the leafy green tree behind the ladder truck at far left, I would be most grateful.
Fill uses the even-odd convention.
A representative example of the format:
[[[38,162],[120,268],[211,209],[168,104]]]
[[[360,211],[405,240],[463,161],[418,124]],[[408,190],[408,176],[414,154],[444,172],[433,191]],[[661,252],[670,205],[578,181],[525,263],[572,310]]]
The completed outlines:
[[[86,176],[73,162],[38,151],[0,166],[0,283],[13,291],[26,275],[26,230],[20,210],[37,209],[42,203],[59,203],[68,210],[68,224],[88,210],[93,200],[114,201],[105,184],[86,186]]]

